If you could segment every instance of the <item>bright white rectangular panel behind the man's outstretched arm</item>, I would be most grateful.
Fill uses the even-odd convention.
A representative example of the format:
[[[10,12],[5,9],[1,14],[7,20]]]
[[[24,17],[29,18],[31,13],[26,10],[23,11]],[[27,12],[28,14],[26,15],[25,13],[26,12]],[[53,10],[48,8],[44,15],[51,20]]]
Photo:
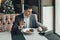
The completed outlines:
[[[53,7],[43,7],[43,25],[48,28],[48,31],[53,30]]]

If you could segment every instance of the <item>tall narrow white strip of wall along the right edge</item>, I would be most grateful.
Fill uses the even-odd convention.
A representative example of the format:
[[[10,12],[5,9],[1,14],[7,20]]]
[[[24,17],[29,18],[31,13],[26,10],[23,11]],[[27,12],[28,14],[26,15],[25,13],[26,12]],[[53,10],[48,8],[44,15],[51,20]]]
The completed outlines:
[[[60,35],[60,0],[56,0],[56,33]]]

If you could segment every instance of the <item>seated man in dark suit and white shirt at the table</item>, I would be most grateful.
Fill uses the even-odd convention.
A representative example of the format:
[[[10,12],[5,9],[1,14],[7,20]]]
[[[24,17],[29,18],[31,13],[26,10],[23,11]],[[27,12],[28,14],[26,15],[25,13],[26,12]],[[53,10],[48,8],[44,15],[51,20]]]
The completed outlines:
[[[41,32],[47,30],[45,26],[37,22],[35,15],[32,14],[32,8],[28,5],[24,6],[24,13],[15,18],[11,30],[12,40],[26,40],[21,32],[23,28],[38,28]]]

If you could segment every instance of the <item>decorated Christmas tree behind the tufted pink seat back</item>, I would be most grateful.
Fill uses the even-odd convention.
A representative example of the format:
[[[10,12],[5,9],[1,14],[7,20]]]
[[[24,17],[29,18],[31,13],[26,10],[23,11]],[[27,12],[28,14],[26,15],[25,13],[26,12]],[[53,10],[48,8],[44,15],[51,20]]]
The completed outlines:
[[[4,0],[2,6],[3,6],[3,12],[5,14],[13,14],[13,13],[15,13],[14,6],[13,6],[11,0]]]

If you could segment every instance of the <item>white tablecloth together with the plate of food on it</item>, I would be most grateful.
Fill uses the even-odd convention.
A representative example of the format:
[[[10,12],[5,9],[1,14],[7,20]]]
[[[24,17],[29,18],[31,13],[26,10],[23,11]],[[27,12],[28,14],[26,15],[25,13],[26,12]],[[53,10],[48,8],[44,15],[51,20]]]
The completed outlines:
[[[26,31],[31,30],[32,32]],[[23,29],[23,35],[26,40],[48,40],[44,35],[41,35],[37,28],[26,28]]]

